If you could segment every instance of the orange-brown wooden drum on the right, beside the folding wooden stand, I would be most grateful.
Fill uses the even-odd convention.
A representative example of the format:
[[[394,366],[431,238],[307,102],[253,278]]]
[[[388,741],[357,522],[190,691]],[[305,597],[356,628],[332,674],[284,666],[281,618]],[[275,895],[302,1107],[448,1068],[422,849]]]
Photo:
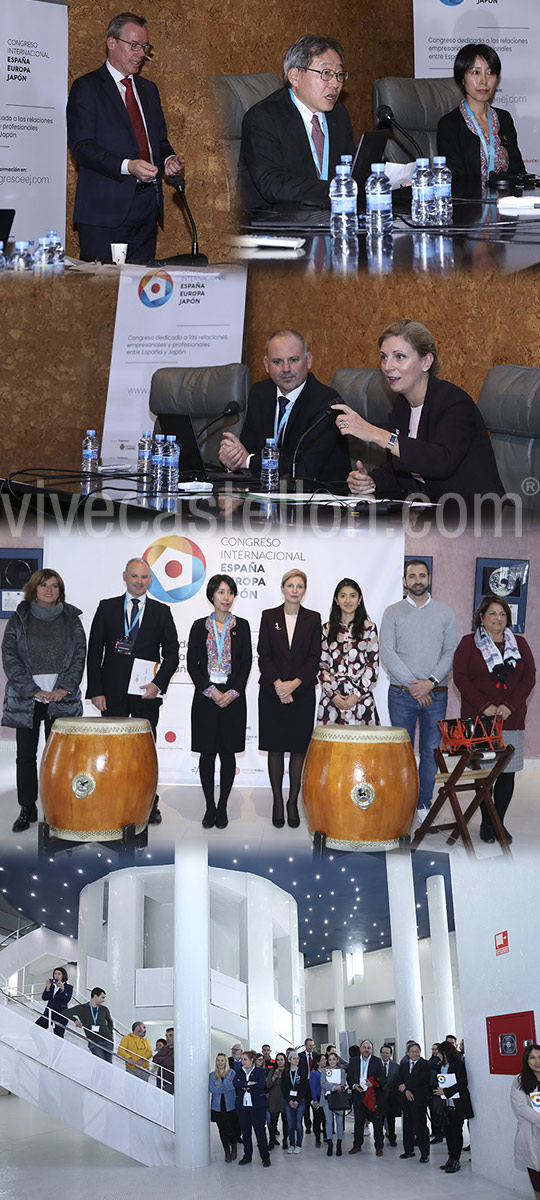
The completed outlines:
[[[336,850],[394,850],[409,832],[418,772],[407,730],[318,725],[302,776],[312,834]]]

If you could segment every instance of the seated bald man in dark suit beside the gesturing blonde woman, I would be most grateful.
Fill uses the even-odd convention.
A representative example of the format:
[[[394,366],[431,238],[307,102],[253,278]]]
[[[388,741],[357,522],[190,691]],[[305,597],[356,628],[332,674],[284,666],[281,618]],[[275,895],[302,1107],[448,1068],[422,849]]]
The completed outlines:
[[[350,457],[347,442],[340,442],[332,416],[320,420],[311,433],[307,432],[338,397],[332,388],[326,388],[311,373],[312,358],[304,335],[295,329],[270,334],[263,361],[270,378],[251,388],[240,438],[223,433],[220,461],[229,470],[247,467],[252,475],[258,475],[265,440],[276,437],[280,475],[290,474],[298,450],[299,479],[344,480]]]

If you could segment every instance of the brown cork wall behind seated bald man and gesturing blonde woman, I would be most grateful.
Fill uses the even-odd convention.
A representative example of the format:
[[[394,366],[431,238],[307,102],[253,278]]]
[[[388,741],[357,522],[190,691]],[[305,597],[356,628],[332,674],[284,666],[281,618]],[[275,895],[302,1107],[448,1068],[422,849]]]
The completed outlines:
[[[77,464],[88,425],[102,428],[118,282],[67,275],[2,280],[0,474],[28,466]],[[242,359],[264,373],[271,330],[300,325],[324,382],[340,366],[376,366],[377,337],[391,320],[421,320],[439,340],[442,376],[476,398],[496,364],[540,365],[535,276],[461,275],[426,280],[300,277],[251,271]]]

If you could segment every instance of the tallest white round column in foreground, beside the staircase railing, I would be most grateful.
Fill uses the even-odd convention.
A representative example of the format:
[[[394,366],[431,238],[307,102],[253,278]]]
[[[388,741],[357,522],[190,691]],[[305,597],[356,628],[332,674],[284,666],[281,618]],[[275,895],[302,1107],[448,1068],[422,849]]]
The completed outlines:
[[[210,896],[208,846],[174,853],[174,1127],[176,1166],[208,1166],[210,1123]]]

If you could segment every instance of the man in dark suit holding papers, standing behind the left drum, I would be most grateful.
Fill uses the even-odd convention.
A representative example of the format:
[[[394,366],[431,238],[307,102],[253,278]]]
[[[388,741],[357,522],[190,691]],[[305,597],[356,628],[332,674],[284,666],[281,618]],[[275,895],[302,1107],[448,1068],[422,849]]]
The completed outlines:
[[[88,643],[86,696],[102,716],[146,718],[155,738],[162,695],[176,671],[179,647],[170,608],[146,598],[151,577],[144,558],[130,558],[124,571],[125,594],[98,605]],[[136,659],[158,664],[154,680],[140,686],[142,695],[130,691]],[[149,820],[150,824],[161,823],[157,796]]]

